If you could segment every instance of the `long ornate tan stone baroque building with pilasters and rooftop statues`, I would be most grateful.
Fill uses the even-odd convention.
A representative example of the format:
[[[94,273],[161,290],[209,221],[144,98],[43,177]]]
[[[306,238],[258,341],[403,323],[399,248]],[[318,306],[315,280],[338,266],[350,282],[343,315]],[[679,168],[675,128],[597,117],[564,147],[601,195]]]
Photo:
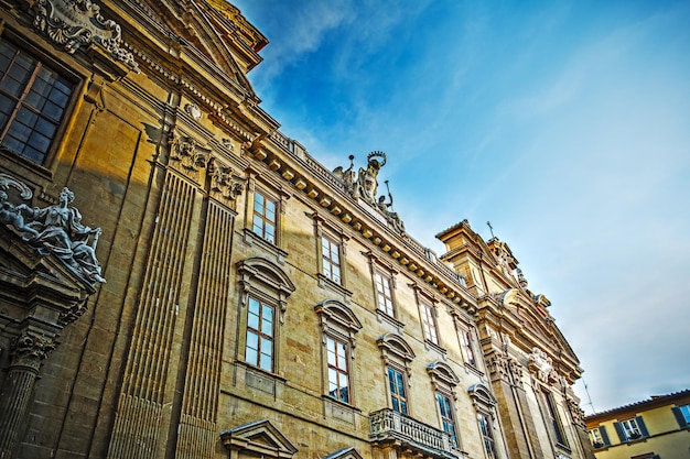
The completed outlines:
[[[506,242],[282,134],[235,7],[0,13],[0,458],[593,458]]]

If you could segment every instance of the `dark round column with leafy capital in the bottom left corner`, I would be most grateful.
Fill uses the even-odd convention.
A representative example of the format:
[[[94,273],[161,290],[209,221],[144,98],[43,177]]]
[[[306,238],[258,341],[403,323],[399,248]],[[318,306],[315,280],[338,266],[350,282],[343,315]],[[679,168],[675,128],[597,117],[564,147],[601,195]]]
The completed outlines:
[[[0,459],[12,457],[25,422],[33,385],[53,338],[24,331],[12,340],[11,363],[0,394]]]

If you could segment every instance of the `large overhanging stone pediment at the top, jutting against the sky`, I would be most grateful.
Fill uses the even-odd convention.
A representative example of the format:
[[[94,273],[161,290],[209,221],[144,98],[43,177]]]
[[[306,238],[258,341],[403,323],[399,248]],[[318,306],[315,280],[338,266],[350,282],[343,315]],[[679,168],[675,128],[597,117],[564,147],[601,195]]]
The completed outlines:
[[[262,61],[258,52],[268,44],[268,40],[237,8],[225,0],[145,3],[150,13],[155,15],[152,20],[165,24],[187,54],[211,61],[256,96],[246,75]]]

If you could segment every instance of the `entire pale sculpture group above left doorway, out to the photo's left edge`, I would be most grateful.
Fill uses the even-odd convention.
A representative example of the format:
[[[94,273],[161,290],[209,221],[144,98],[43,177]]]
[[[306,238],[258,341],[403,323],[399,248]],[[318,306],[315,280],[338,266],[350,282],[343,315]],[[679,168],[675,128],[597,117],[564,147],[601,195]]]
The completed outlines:
[[[100,228],[82,225],[82,214],[71,207],[74,193],[65,187],[60,193],[58,204],[40,209],[25,204],[14,206],[0,190],[0,222],[12,226],[22,233],[22,239],[41,253],[53,253],[89,283],[106,280],[96,259],[96,244]]]

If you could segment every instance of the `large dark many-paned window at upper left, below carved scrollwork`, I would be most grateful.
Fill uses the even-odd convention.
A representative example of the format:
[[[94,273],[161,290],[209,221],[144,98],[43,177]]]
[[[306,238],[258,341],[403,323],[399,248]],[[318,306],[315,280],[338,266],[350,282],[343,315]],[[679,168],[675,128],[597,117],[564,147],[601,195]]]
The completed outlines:
[[[7,41],[0,41],[0,141],[43,163],[74,84]]]

